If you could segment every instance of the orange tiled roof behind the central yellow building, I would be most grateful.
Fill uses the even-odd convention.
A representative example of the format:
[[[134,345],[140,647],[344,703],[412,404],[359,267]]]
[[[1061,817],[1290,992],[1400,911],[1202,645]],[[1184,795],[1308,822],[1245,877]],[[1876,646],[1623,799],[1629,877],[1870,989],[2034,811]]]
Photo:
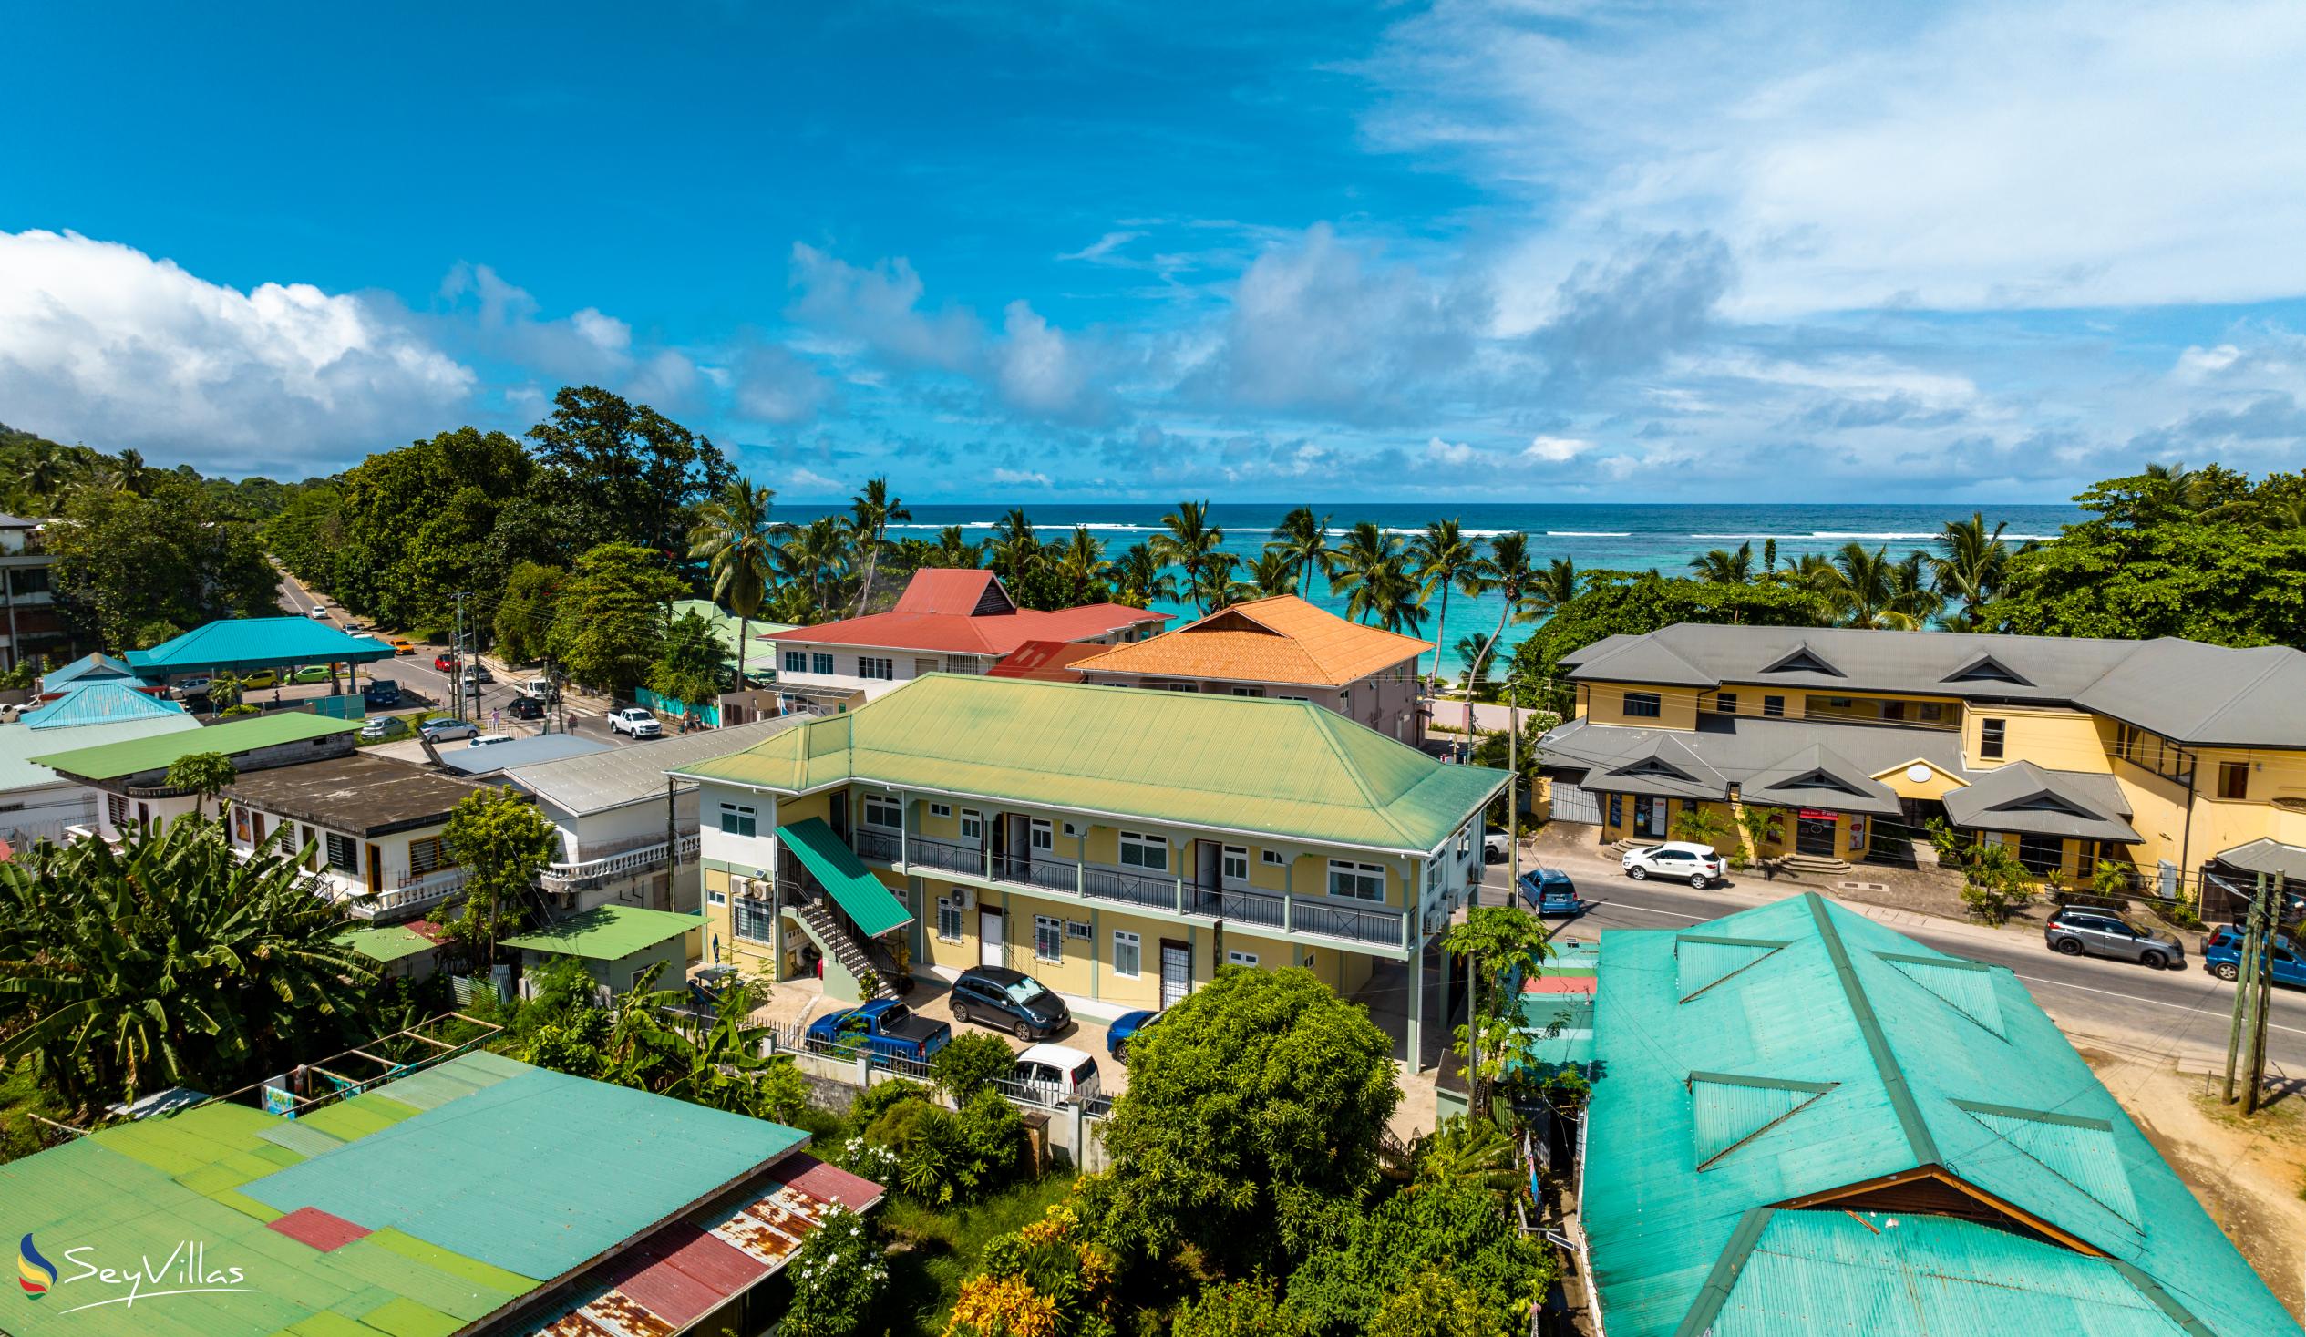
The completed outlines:
[[[1077,659],[1072,668],[1344,687],[1427,650],[1432,641],[1347,622],[1296,595],[1275,595],[1218,609],[1167,636]]]

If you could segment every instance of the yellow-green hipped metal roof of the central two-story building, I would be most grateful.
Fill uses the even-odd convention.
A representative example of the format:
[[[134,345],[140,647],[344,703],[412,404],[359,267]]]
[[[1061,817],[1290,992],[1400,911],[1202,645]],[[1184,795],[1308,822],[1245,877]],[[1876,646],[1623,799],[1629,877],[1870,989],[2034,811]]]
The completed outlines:
[[[676,775],[777,793],[867,779],[1404,853],[1506,784],[1308,701],[952,673]]]

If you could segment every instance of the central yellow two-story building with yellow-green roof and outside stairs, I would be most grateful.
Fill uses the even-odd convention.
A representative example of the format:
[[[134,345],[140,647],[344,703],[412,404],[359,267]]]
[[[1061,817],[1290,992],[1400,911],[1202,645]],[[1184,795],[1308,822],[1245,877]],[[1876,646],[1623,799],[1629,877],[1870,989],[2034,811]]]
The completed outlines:
[[[1414,980],[1506,781],[1310,701],[945,673],[678,775],[717,959],[839,998],[1008,966],[1091,1017],[1229,964]]]

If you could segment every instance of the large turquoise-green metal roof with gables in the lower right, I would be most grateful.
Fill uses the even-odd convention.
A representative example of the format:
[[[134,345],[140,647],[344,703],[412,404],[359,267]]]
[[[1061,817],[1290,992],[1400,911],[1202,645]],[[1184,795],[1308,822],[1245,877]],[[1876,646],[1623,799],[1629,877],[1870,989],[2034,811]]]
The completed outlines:
[[[1584,1226],[1610,1337],[2299,1332],[2015,975],[1822,897],[1607,931],[1596,1058]],[[1921,1166],[2110,1259],[1766,1210]],[[1997,1282],[2034,1268],[2041,1286]],[[1944,1282],[1916,1298],[1902,1275]],[[1771,1328],[1785,1302],[1803,1323]]]

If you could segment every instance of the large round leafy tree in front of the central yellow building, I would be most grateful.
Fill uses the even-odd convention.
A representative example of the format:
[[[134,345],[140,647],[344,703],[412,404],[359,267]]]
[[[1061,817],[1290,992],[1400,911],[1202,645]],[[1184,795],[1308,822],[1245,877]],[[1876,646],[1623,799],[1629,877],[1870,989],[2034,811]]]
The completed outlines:
[[[1301,1254],[1377,1183],[1393,1042],[1310,970],[1222,970],[1130,1040],[1105,1120],[1109,1238],[1192,1245],[1234,1275]]]

